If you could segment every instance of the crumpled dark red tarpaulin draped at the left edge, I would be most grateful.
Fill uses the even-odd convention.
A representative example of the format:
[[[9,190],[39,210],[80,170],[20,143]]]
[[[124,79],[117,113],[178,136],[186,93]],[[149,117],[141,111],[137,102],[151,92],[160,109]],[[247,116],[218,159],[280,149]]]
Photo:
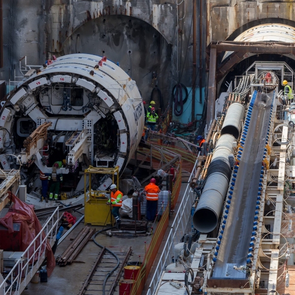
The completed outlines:
[[[0,218],[0,224],[8,229],[9,234],[13,233],[13,223],[22,224],[22,243],[21,249],[19,249],[19,251],[25,251],[29,247],[29,244],[32,242],[32,240],[40,233],[40,231],[42,230],[42,226],[34,212],[33,205],[23,203],[14,194],[12,194],[11,192],[8,193],[9,198],[11,199],[11,202],[14,203],[14,205],[3,218]],[[45,233],[42,234],[42,237],[45,237]],[[35,248],[37,248],[39,245],[40,238],[35,241]],[[44,252],[44,246],[41,247],[41,249],[42,250],[40,255]],[[32,255],[33,251],[34,246],[32,245],[29,249],[29,257]],[[35,255],[35,259],[38,258],[38,255],[39,253],[37,252]],[[27,257],[27,254],[25,257]],[[48,276],[50,276],[56,263],[49,241],[46,241],[46,257],[47,274]]]

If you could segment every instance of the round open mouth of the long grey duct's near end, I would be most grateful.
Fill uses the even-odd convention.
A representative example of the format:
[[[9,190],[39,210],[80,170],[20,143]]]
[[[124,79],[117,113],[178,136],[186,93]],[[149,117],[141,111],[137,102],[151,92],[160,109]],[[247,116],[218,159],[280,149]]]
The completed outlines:
[[[193,215],[193,225],[200,233],[212,232],[218,221],[218,216],[209,208],[201,208]]]

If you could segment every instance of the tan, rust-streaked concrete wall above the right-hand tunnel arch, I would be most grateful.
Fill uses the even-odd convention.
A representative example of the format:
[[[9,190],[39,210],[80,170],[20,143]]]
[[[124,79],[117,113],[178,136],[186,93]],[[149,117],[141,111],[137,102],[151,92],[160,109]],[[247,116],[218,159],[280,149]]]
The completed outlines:
[[[294,27],[295,2],[290,0],[207,1],[207,45],[211,41],[234,40],[246,29],[266,23]]]

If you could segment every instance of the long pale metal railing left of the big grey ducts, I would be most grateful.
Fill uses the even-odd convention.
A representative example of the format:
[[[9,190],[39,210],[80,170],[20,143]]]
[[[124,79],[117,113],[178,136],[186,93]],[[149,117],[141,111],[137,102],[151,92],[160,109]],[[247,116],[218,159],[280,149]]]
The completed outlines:
[[[192,173],[188,179],[188,185],[184,192],[183,199],[177,210],[174,222],[171,226],[170,233],[167,237],[167,241],[161,254],[160,260],[151,279],[151,283],[148,287],[147,295],[153,295],[156,291],[162,272],[165,270],[167,265],[172,263],[172,256],[174,255],[174,244],[179,243],[181,237],[185,234],[188,221],[191,218],[191,207],[195,200],[194,193],[190,188],[189,183],[196,174],[197,162],[198,160],[196,161]]]

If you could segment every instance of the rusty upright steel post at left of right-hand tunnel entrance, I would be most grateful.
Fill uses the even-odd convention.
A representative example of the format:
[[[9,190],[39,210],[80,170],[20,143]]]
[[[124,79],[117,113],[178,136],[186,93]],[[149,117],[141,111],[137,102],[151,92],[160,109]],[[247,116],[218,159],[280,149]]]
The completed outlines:
[[[207,99],[207,128],[214,118],[215,100],[216,100],[216,46],[211,45],[210,63],[209,63],[209,81],[208,81],[208,99]]]

